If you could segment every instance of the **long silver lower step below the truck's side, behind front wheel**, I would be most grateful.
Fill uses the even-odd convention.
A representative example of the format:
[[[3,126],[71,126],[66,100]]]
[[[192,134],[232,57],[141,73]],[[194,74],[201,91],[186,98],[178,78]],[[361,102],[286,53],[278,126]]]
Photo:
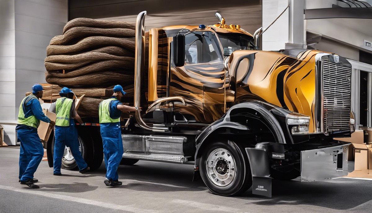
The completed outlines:
[[[166,154],[139,154],[139,153],[129,153],[123,154],[123,158],[132,158],[139,160],[152,160],[161,162],[171,162],[171,163],[185,163],[187,162],[187,157],[182,155],[166,155]]]

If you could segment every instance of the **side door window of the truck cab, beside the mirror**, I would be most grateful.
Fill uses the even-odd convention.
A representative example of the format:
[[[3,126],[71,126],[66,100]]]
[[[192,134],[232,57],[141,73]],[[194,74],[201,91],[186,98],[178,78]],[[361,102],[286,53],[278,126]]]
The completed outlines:
[[[185,64],[222,61],[217,39],[212,32],[197,31],[185,35]]]

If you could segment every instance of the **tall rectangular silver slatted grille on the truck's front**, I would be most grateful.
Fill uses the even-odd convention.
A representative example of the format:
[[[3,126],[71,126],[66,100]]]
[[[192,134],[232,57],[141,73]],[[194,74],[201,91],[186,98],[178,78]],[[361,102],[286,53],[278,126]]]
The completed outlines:
[[[350,130],[351,67],[322,61],[324,132]]]

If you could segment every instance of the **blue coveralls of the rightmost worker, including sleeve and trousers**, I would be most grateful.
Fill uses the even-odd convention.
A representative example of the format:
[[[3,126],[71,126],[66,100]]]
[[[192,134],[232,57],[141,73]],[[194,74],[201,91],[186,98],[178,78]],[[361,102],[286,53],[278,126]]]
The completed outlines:
[[[116,98],[112,96],[111,98]],[[116,108],[122,104],[119,100],[110,102],[110,117],[120,117],[121,111]],[[123,141],[121,139],[120,122],[100,124],[101,137],[103,142],[103,153],[105,154],[106,178],[116,181],[119,178],[118,168],[123,158]]]

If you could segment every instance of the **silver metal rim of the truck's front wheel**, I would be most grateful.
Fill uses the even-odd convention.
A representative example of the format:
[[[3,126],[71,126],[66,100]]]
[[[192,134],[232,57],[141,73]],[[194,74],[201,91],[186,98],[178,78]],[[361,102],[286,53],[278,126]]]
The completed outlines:
[[[208,178],[218,186],[227,186],[235,178],[235,159],[226,149],[213,150],[207,158],[205,168]]]

